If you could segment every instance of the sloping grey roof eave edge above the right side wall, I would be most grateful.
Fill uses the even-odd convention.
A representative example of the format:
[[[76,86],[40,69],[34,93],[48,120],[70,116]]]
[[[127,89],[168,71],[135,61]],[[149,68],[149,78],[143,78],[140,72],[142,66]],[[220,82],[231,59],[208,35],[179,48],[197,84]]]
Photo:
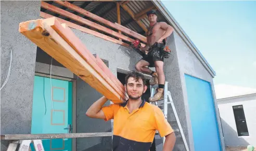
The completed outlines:
[[[168,9],[163,5],[161,1],[151,1],[158,10],[162,13],[162,15],[169,21],[170,24],[172,24],[174,30],[177,32],[178,35],[184,40],[186,45],[190,48],[190,50],[195,54],[197,59],[202,63],[202,65],[206,68],[206,70],[210,73],[212,77],[216,76],[215,71],[210,66],[210,64],[207,62],[207,60],[202,56],[200,51],[197,49],[197,47],[194,45],[194,43],[189,39],[188,35],[183,31],[181,26],[177,23],[177,21],[173,18],[171,13],[168,11]]]

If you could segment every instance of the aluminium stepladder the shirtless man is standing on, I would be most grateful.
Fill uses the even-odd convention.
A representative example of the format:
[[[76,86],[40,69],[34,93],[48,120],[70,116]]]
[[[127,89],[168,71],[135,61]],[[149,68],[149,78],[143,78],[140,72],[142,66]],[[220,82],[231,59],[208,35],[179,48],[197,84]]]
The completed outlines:
[[[157,86],[150,86],[150,88],[151,88],[150,97],[153,97],[153,95],[156,93]],[[155,104],[158,107],[163,106],[163,114],[164,114],[165,119],[167,119],[167,116],[168,116],[168,104],[172,105],[173,113],[175,115],[175,119],[177,121],[178,128],[180,129],[180,132],[181,132],[181,135],[182,135],[182,139],[183,139],[185,148],[186,148],[187,151],[189,151],[189,148],[188,148],[188,145],[187,145],[187,141],[186,141],[186,138],[185,138],[182,126],[181,126],[181,122],[180,122],[180,119],[178,118],[178,114],[177,114],[176,108],[175,108],[173,100],[172,100],[171,92],[168,90],[168,81],[165,81],[164,91],[163,92],[164,92],[163,103],[160,104],[158,102],[160,100],[158,100],[156,102],[151,102],[151,104]],[[163,139],[163,143],[164,143],[165,137],[163,137],[162,139]]]

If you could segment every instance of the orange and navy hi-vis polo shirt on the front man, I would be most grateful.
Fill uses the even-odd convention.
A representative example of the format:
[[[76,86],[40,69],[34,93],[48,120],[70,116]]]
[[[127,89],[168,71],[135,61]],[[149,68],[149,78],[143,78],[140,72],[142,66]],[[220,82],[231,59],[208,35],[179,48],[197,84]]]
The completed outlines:
[[[143,100],[142,104],[129,113],[123,104],[111,104],[102,108],[106,121],[113,119],[113,151],[148,151],[156,130],[161,137],[173,132],[161,109]]]

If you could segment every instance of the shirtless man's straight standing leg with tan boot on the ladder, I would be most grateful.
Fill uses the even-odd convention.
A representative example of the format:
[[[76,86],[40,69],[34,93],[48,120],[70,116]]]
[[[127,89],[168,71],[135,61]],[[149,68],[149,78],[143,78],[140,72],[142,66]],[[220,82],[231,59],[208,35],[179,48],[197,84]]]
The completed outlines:
[[[157,93],[153,97],[149,98],[150,102],[158,101],[163,98],[163,89],[165,83],[165,76],[163,73],[163,61],[155,61],[155,67],[158,74],[158,89]]]

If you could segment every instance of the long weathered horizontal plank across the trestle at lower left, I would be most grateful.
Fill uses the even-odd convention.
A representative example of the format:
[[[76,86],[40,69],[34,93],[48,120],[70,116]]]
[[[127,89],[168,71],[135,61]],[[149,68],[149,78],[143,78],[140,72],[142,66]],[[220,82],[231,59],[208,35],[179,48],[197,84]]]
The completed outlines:
[[[69,134],[5,134],[1,140],[35,140],[35,139],[68,139],[112,136],[112,132],[69,133]]]

